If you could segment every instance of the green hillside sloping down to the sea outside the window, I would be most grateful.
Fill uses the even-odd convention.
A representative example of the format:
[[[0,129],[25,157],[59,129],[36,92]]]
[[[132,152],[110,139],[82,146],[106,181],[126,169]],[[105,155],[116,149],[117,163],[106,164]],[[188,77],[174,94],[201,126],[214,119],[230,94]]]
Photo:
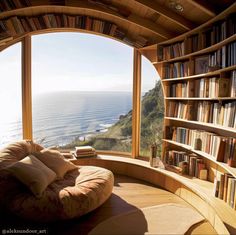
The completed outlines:
[[[150,145],[153,143],[157,143],[158,151],[161,151],[164,104],[160,81],[143,96],[141,110],[141,155],[149,156]],[[85,141],[75,140],[65,148],[91,145],[98,150],[130,152],[131,136],[132,110],[126,115],[121,115],[119,121],[112,125],[107,132],[96,134]]]

